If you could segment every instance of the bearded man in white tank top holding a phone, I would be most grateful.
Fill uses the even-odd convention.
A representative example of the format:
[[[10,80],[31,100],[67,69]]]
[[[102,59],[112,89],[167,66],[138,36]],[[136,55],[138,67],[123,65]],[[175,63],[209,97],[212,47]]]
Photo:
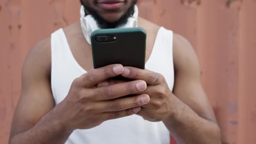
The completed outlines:
[[[81,21],[32,48],[10,144],[168,144],[169,132],[178,143],[221,143],[192,46],[136,19],[136,1],[81,0],[86,13]],[[121,64],[93,69],[88,27],[134,21],[147,32],[146,69]],[[133,81],[111,79],[117,75]]]

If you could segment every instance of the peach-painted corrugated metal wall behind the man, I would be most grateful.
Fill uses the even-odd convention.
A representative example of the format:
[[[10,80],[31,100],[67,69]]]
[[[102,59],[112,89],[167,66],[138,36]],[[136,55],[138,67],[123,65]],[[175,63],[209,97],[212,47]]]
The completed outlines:
[[[139,0],[139,13],[186,37],[226,144],[256,144],[256,0]],[[7,144],[29,49],[79,19],[79,0],[0,0],[0,143]]]

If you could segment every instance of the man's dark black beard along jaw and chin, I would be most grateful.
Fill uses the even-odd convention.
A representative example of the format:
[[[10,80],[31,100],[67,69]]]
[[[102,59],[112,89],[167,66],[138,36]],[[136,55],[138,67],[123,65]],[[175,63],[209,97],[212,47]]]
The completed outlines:
[[[133,15],[134,7],[137,3],[137,0],[133,0],[132,5],[127,9],[127,11],[123,14],[123,16],[121,16],[120,19],[118,19],[115,22],[108,22],[103,17],[101,17],[99,13],[97,13],[97,11],[95,11],[93,8],[85,5],[83,3],[83,0],[80,0],[80,1],[81,1],[81,4],[85,7],[85,10],[88,11],[88,13],[90,13],[93,16],[93,18],[96,20],[98,26],[101,29],[113,29],[113,28],[116,28],[117,26],[126,24],[128,21],[128,18]]]

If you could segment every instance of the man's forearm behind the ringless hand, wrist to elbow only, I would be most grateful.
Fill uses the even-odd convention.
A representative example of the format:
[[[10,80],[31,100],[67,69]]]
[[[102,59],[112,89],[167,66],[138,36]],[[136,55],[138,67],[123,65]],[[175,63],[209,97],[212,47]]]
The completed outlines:
[[[51,111],[34,127],[11,136],[9,144],[64,144],[72,131],[66,131],[59,120],[53,116]]]

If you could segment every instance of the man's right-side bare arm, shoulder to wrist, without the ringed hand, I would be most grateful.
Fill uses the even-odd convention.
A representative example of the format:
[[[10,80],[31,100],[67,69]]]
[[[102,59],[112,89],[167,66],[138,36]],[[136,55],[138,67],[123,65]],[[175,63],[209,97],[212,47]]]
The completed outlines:
[[[200,67],[189,42],[174,35],[173,59],[177,113],[164,120],[178,143],[220,144],[221,135],[208,98],[200,81]]]

